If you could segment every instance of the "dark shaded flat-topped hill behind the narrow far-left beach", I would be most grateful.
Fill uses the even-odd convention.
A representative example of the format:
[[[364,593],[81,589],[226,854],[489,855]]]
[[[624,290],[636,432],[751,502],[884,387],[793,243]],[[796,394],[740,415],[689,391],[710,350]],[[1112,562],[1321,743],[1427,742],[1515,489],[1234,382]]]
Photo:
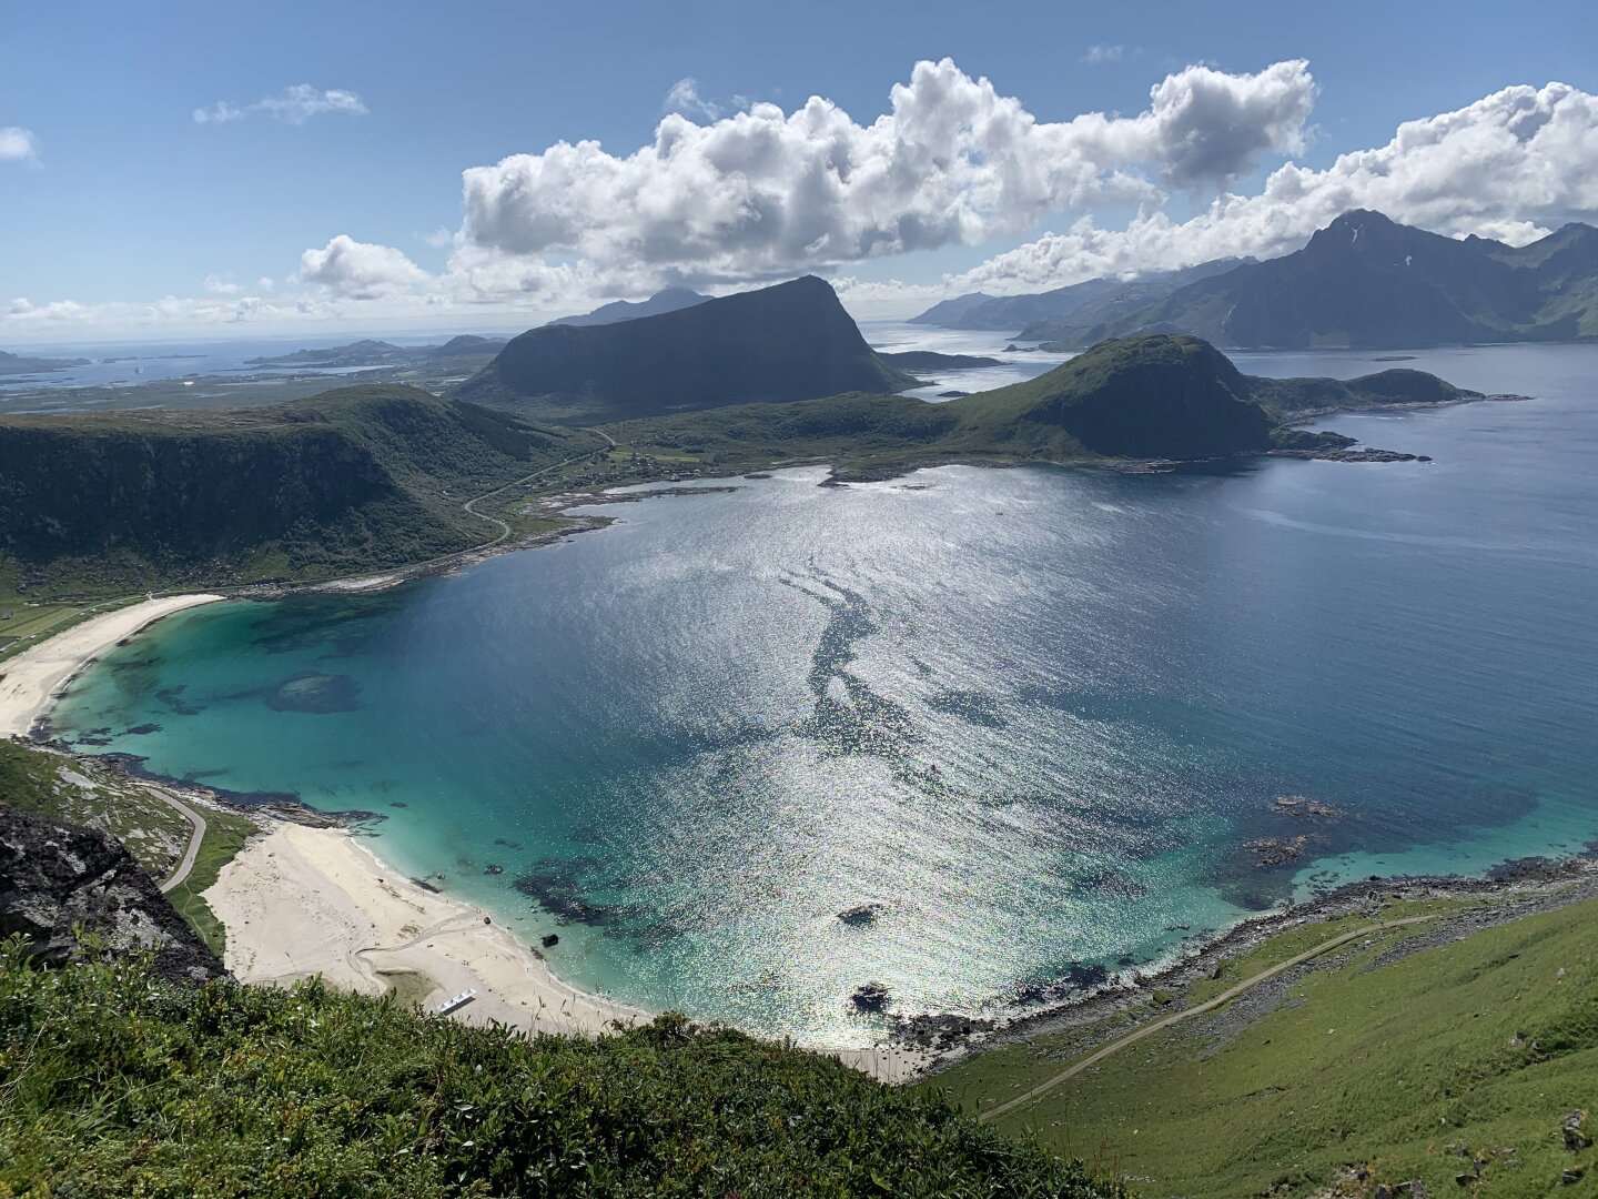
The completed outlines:
[[[331,577],[489,540],[475,494],[602,446],[411,387],[0,420],[0,576],[29,593]],[[0,582],[10,582],[0,579]]]

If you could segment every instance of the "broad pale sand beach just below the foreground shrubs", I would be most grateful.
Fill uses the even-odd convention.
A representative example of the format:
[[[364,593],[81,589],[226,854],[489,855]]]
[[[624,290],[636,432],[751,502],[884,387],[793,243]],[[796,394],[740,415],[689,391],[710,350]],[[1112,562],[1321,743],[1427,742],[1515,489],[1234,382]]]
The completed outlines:
[[[419,887],[350,833],[273,822],[205,892],[227,929],[227,969],[246,983],[323,975],[364,994],[411,970],[436,990],[423,1007],[475,990],[455,1017],[526,1031],[599,1033],[641,1012],[567,986],[532,948],[478,908]]]

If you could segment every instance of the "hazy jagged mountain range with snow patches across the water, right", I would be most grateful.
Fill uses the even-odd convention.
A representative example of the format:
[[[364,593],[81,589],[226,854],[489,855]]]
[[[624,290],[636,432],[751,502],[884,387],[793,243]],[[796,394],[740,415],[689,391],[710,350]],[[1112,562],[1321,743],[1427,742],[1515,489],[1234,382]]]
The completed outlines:
[[[1267,262],[1206,262],[1036,296],[944,301],[919,323],[1018,329],[1077,350],[1104,337],[1189,333],[1238,349],[1421,349],[1598,339],[1598,229],[1526,246],[1440,237],[1357,209]]]

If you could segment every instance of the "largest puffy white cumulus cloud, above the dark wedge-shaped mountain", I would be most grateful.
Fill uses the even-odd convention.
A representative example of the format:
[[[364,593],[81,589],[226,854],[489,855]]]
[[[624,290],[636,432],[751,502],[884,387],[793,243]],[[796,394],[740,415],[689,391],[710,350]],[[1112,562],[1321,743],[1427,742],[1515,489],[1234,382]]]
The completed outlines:
[[[980,245],[1061,209],[1159,205],[1149,171],[1194,185],[1294,152],[1314,96],[1302,61],[1189,67],[1135,117],[1048,123],[949,59],[917,62],[871,125],[812,96],[705,125],[673,112],[625,157],[558,142],[471,168],[462,241],[725,280]]]

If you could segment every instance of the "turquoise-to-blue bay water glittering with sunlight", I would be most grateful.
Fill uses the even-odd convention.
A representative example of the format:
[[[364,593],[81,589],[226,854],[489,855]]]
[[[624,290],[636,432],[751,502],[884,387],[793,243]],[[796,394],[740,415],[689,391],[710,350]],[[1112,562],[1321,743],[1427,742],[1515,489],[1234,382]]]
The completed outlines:
[[[457,577],[195,609],[54,721],[374,812],[379,854],[644,1006],[845,1044],[868,980],[1037,1001],[1317,886],[1598,838],[1598,352],[1409,364],[1539,398],[1326,422],[1432,465],[733,480]],[[1280,870],[1245,847],[1299,833]]]

